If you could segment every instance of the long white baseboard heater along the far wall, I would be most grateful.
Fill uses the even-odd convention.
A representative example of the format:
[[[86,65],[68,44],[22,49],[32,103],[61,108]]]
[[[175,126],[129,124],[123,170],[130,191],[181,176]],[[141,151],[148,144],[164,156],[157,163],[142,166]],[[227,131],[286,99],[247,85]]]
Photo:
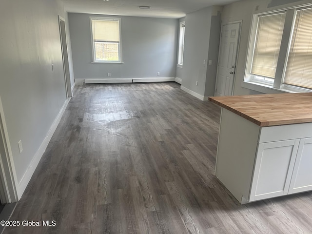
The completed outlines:
[[[146,83],[146,82],[167,82],[175,81],[174,77],[148,77],[148,78],[86,78],[86,79],[76,79],[76,85],[83,84],[110,84],[110,83]]]

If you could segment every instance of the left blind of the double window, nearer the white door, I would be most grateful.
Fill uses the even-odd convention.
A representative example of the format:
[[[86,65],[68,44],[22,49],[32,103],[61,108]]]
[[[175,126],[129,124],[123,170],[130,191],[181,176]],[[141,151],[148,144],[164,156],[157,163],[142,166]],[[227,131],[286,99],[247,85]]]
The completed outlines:
[[[275,77],[286,13],[258,18],[251,74]]]

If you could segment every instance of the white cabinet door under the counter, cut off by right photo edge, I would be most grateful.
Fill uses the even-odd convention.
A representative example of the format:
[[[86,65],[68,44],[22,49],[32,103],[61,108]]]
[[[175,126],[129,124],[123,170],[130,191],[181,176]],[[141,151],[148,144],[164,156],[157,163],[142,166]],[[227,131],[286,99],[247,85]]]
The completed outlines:
[[[289,194],[312,190],[312,138],[300,140]]]

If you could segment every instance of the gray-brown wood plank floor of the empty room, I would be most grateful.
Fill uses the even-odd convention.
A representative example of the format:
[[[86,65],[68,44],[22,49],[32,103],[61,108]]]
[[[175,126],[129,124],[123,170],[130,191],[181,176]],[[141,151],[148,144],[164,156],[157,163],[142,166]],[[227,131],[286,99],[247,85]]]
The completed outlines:
[[[219,117],[176,83],[77,86],[11,217],[56,226],[4,233],[312,233],[312,193],[239,205],[215,178]]]

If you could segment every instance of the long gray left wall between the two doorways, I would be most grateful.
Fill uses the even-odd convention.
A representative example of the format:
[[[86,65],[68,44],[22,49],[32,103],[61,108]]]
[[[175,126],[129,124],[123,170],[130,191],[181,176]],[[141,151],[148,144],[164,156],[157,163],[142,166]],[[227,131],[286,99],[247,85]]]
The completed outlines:
[[[1,1],[0,98],[18,182],[66,100],[58,15],[56,0]]]

